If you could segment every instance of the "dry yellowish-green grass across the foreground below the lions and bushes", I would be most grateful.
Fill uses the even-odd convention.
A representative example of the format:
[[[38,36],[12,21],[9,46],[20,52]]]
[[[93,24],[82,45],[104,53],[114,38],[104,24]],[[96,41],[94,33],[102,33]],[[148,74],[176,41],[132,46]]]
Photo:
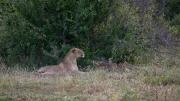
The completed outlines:
[[[38,77],[0,72],[0,101],[179,101],[179,65],[145,65],[134,72],[94,70],[85,75]]]

